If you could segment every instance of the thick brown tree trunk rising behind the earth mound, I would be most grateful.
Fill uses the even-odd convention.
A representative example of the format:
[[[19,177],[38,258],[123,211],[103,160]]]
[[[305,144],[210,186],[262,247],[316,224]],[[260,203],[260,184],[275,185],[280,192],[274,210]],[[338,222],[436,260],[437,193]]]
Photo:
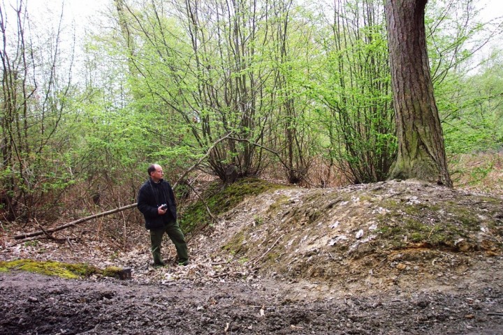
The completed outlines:
[[[391,178],[452,187],[428,64],[427,0],[386,0],[398,158]]]

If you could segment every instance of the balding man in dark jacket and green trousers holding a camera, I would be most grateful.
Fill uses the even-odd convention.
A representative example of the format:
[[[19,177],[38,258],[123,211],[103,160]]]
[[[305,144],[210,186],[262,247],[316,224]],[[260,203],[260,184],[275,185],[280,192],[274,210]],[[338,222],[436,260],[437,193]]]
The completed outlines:
[[[145,228],[150,230],[150,241],[154,267],[164,265],[161,258],[161,243],[163,234],[175,244],[179,265],[189,264],[187,243],[178,225],[175,195],[168,181],[163,179],[161,165],[152,164],[147,169],[149,179],[138,192],[138,209],[145,217]]]

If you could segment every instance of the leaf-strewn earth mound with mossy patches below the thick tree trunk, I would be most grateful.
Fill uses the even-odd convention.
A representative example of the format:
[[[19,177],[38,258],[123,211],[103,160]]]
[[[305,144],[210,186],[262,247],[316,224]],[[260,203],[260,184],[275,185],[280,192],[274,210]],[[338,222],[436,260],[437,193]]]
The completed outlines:
[[[502,266],[502,198],[421,181],[268,191],[215,230],[214,255],[323,295],[476,285]]]

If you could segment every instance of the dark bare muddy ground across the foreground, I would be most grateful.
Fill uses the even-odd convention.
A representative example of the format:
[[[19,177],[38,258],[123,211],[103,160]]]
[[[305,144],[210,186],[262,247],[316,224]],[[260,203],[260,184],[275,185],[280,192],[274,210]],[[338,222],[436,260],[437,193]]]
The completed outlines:
[[[502,288],[314,300],[287,285],[0,274],[1,334],[503,334]]]

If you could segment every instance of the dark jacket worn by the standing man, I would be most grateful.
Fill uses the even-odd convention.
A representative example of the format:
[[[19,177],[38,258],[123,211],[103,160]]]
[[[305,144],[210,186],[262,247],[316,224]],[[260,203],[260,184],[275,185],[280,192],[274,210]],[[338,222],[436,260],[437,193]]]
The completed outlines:
[[[157,208],[161,204],[168,205],[166,214],[159,215]],[[167,223],[176,221],[176,203],[173,188],[161,179],[155,183],[152,179],[145,181],[138,192],[138,209],[145,217],[145,228],[148,230],[161,229]]]

